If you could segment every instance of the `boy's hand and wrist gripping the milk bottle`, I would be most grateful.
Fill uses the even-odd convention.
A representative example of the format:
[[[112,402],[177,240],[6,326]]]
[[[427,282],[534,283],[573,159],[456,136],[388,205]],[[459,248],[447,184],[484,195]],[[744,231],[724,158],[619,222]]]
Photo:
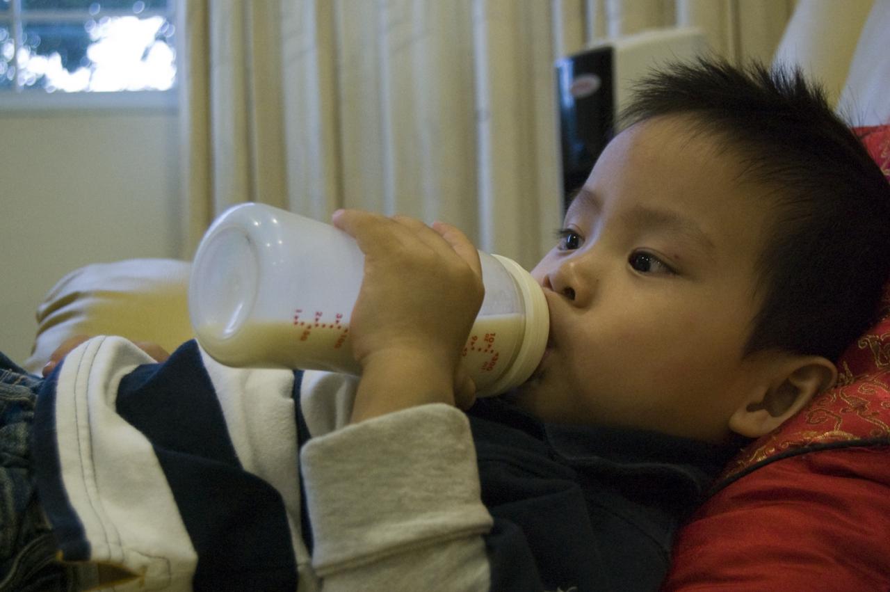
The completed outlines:
[[[429,402],[472,404],[475,387],[459,362],[484,293],[473,244],[449,224],[405,216],[341,210],[334,225],[365,254],[350,321],[362,367],[352,421]]]

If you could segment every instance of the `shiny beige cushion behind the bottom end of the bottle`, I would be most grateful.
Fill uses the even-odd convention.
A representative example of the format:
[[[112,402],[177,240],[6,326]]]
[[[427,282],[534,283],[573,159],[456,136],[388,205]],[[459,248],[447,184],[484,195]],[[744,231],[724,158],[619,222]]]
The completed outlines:
[[[39,372],[76,335],[118,335],[172,352],[192,337],[189,270],[189,263],[173,259],[128,259],[70,272],[37,308],[37,336],[25,369]]]

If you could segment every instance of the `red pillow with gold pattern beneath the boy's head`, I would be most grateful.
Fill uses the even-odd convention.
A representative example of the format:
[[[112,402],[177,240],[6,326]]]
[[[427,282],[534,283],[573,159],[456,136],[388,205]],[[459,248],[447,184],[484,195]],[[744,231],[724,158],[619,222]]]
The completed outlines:
[[[855,131],[890,180],[890,126]],[[883,304],[837,385],[727,467],[664,590],[890,590],[890,286]]]

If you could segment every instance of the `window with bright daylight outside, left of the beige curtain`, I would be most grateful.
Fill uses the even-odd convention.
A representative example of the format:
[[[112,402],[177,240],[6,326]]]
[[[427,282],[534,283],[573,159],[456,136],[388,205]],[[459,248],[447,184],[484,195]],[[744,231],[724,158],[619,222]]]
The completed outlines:
[[[0,0],[0,104],[174,87],[176,0]],[[160,93],[159,93],[160,92]]]

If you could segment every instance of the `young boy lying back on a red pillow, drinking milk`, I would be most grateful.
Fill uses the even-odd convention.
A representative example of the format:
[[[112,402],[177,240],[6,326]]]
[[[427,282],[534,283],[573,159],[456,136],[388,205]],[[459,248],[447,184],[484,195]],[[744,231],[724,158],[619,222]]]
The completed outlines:
[[[20,540],[0,577],[28,581],[18,557],[32,578],[119,566],[119,590],[657,589],[740,439],[832,385],[867,328],[890,187],[797,76],[702,62],[637,97],[532,272],[551,335],[525,385],[473,404],[464,235],[338,212],[366,255],[361,377],[80,345],[20,384],[39,395],[17,515],[88,563]]]

